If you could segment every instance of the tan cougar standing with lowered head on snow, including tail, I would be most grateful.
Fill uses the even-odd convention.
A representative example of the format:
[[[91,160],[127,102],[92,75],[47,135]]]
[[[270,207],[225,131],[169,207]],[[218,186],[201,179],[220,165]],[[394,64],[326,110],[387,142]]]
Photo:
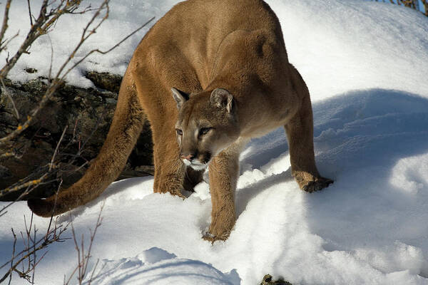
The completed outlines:
[[[315,166],[309,92],[261,0],[189,0],[165,14],[133,54],[106,142],[86,175],[59,192],[55,209],[55,197],[29,207],[49,217],[98,197],[118,177],[146,118],[154,192],[182,196],[209,165],[213,210],[205,239],[227,239],[233,229],[238,157],[250,138],[285,126],[300,188],[332,183]]]

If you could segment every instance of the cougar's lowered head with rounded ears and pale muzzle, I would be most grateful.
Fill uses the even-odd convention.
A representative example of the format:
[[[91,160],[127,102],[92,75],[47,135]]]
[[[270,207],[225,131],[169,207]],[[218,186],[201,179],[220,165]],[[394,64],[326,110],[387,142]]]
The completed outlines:
[[[180,159],[195,170],[203,170],[240,135],[233,95],[221,88],[191,96],[171,90],[178,108],[175,131]]]

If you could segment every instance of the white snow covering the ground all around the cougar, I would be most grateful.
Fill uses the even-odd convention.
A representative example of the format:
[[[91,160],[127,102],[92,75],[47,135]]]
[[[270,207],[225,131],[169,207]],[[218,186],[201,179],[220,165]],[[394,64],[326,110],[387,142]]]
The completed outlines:
[[[109,48],[176,2],[112,1],[110,18],[78,56]],[[246,285],[264,274],[293,284],[428,284],[428,19],[375,1],[267,2],[312,94],[317,165],[335,184],[313,194],[298,189],[283,130],[253,140],[241,158],[235,229],[211,245],[201,239],[210,224],[207,184],[183,201],[153,194],[151,177],[113,183],[60,217],[87,238],[106,203],[92,257],[106,266],[92,284]],[[14,4],[21,19],[11,17],[10,33],[23,33],[26,1]],[[66,16],[50,34],[58,61],[87,19]],[[145,31],[86,61],[68,80],[89,86],[82,73],[94,68],[123,73]],[[49,58],[49,39],[41,38],[11,77],[44,75]],[[26,74],[26,67],[39,73]],[[30,211],[21,202],[0,218],[0,263],[11,254],[10,227],[24,230],[23,215]],[[46,219],[35,222],[46,229]],[[51,245],[36,284],[62,284],[75,264],[71,240]],[[12,284],[26,281],[14,276]]]

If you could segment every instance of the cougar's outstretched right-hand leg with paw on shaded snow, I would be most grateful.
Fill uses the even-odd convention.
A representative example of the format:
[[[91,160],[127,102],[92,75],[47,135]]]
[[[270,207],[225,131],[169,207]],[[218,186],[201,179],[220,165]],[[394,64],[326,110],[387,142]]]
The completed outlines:
[[[333,181],[321,177],[315,165],[312,105],[309,90],[294,66],[290,65],[290,71],[294,81],[294,92],[301,100],[300,109],[285,125],[290,147],[291,170],[300,189],[313,192],[328,187]]]

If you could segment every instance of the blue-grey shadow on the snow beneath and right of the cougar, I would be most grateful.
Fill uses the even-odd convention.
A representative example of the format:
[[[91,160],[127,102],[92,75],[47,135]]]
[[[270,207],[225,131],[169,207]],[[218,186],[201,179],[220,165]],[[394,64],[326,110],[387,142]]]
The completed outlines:
[[[418,247],[422,254],[413,273],[427,276],[428,181],[418,181],[422,186],[412,193],[404,184],[394,185],[392,175],[399,160],[428,152],[428,100],[403,91],[371,89],[338,95],[312,108],[317,166],[335,184],[305,195],[310,232],[324,239],[327,251],[379,249],[393,257],[394,251],[399,254],[397,242]],[[250,142],[241,162],[260,168],[287,150],[280,128]],[[411,173],[406,175],[412,179]],[[240,190],[238,214],[260,189],[290,179],[288,169]],[[406,268],[387,264],[377,269]]]

